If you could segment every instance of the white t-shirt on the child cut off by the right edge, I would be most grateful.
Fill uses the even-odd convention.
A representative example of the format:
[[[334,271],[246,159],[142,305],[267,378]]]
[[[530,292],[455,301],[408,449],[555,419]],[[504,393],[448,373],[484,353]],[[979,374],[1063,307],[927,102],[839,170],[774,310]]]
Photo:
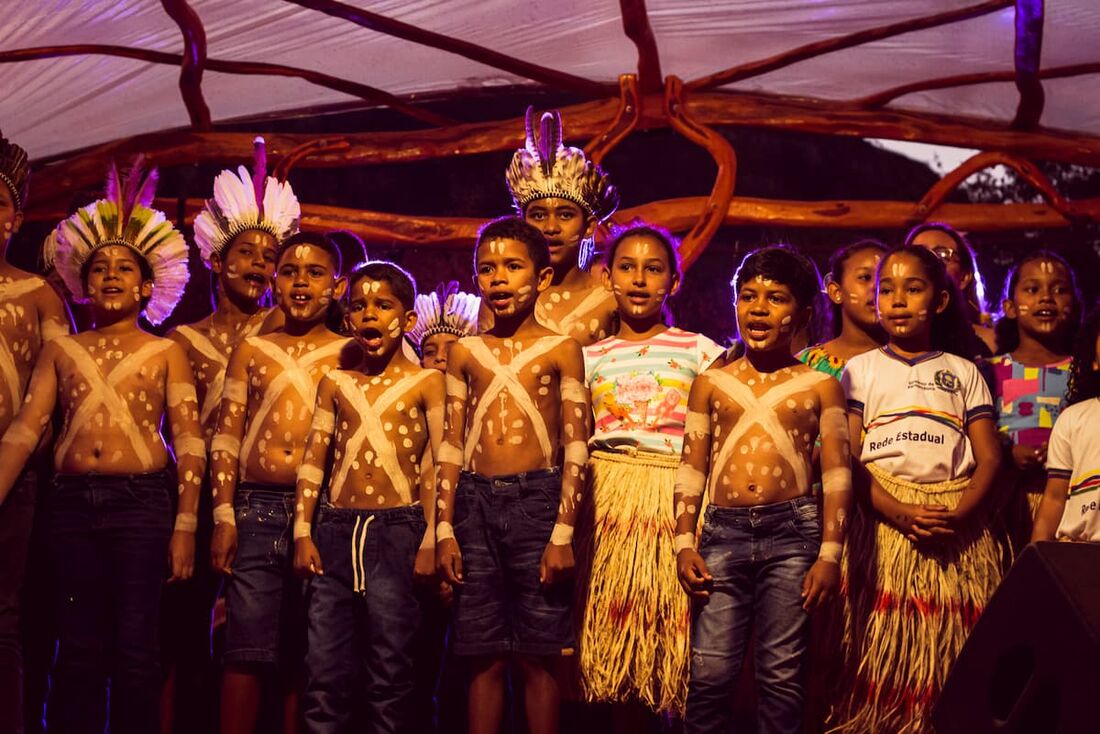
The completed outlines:
[[[1100,398],[1070,405],[1058,416],[1046,450],[1046,473],[1069,480],[1055,537],[1100,543]]]

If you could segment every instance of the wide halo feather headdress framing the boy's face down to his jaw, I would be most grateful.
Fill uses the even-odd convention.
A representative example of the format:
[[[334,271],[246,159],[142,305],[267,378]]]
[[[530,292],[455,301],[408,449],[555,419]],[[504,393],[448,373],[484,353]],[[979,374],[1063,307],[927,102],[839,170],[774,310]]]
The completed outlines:
[[[75,302],[88,300],[81,271],[92,253],[111,244],[124,244],[141,255],[153,273],[153,295],[143,311],[145,318],[150,324],[161,324],[175,309],[187,285],[187,242],[164,212],[150,207],[156,179],[156,168],[145,171],[140,155],[125,177],[111,164],[106,198],[77,209],[46,238],[46,263],[57,267]]]

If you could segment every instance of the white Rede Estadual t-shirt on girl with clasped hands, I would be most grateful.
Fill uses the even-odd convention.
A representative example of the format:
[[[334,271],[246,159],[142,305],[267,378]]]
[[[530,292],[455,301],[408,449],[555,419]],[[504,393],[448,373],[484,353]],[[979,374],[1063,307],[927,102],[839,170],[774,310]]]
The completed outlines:
[[[943,482],[976,465],[967,426],[993,417],[989,387],[968,359],[927,352],[906,359],[889,346],[848,360],[840,379],[861,416],[861,461],[898,479]]]

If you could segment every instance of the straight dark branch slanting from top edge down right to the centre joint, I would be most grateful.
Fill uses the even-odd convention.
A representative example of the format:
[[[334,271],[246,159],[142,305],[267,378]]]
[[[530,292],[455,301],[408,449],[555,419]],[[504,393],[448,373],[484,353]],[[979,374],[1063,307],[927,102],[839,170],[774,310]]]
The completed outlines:
[[[531,64],[529,62],[502,54],[475,43],[460,41],[441,33],[433,33],[424,29],[403,23],[392,18],[373,13],[362,8],[355,8],[337,0],[287,0],[296,6],[317,10],[333,18],[351,21],[363,28],[371,29],[377,33],[384,33],[405,41],[411,41],[431,48],[439,48],[451,54],[463,56],[471,61],[492,66],[493,68],[515,74],[525,79],[534,79],[551,87],[565,89],[568,91],[582,95],[584,97],[604,97],[615,92],[615,88],[608,84],[592,81],[583,77],[573,76],[556,69]]]

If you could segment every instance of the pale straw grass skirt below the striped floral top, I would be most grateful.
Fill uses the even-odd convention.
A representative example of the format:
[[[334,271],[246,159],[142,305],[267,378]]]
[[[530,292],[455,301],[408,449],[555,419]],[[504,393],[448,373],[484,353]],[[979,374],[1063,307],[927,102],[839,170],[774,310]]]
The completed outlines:
[[[680,458],[593,451],[578,603],[588,701],[682,713],[691,612],[676,577],[672,489]]]

